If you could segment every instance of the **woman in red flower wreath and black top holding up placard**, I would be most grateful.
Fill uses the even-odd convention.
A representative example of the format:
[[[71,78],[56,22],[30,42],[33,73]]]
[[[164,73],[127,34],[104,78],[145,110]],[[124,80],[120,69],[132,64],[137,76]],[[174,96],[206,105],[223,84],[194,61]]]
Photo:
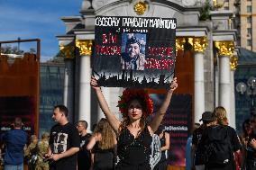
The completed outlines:
[[[147,124],[146,117],[153,112],[153,103],[149,94],[143,89],[126,89],[123,91],[118,107],[123,116],[119,121],[114,116],[105,101],[105,97],[92,76],[91,86],[96,91],[98,103],[105,113],[117,136],[117,170],[151,170],[150,155],[153,133],[158,130],[170,103],[173,92],[177,89],[177,78],[174,78],[162,103],[152,121]]]

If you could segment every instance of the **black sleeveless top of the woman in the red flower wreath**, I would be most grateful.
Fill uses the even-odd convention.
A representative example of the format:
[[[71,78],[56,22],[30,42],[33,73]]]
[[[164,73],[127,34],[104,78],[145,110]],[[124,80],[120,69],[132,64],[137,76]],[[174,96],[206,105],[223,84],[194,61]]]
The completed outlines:
[[[120,161],[116,169],[151,169],[151,141],[152,137],[147,127],[135,139],[130,130],[124,129],[117,142],[117,156]]]

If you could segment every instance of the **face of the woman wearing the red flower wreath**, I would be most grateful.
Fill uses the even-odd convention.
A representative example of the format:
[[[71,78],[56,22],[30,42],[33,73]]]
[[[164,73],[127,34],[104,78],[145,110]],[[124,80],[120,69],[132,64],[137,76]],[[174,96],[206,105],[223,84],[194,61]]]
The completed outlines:
[[[142,104],[134,99],[129,105],[128,105],[128,117],[131,121],[137,121],[142,118]]]

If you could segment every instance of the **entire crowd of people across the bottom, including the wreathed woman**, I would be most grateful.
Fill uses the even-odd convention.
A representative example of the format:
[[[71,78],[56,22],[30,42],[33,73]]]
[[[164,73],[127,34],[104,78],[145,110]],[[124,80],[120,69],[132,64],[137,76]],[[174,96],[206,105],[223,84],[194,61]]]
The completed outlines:
[[[75,125],[68,120],[69,110],[56,105],[52,119],[56,124],[41,139],[32,135],[28,142],[21,118],[15,118],[14,129],[1,135],[5,144],[5,170],[166,170],[168,169],[169,133],[161,121],[171,96],[178,87],[174,78],[160,110],[151,121],[153,111],[149,94],[143,89],[125,89],[118,102],[123,120],[118,120],[105,101],[94,76],[91,86],[105,114],[92,134],[87,121]],[[256,169],[256,116],[242,124],[239,136],[228,126],[224,107],[202,114],[203,123],[187,139],[187,170],[254,170]],[[27,143],[30,143],[29,145]],[[2,151],[4,149],[1,149]],[[1,156],[2,156],[1,152]]]

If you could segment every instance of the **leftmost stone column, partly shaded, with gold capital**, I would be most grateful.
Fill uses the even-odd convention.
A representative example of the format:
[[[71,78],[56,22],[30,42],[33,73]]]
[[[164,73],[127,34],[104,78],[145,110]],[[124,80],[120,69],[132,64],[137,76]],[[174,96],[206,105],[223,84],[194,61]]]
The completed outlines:
[[[63,104],[69,109],[69,121],[73,122],[74,118],[74,58],[75,47],[73,45],[59,46],[64,54],[65,73],[64,73],[64,92]]]

